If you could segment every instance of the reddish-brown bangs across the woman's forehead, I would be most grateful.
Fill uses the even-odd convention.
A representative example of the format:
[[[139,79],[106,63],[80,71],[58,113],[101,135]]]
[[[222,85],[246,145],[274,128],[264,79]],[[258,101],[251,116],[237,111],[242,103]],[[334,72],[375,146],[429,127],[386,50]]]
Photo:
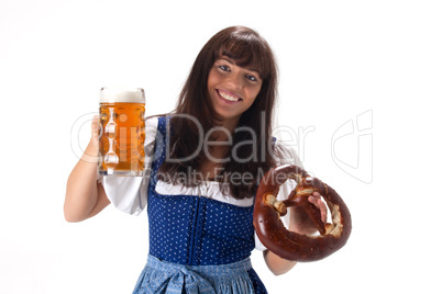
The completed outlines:
[[[254,34],[235,32],[221,45],[217,59],[226,56],[240,67],[253,69],[265,80],[272,72],[272,54],[267,52],[266,44]]]

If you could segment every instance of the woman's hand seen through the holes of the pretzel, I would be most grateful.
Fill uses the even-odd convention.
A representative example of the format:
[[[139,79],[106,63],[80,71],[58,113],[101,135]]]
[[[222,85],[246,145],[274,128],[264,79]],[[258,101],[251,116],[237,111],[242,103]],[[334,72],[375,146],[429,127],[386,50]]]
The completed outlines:
[[[321,220],[327,222],[327,206],[322,201],[321,195],[318,192],[313,192],[308,196],[308,201],[319,208],[321,212]],[[302,235],[313,235],[318,231],[314,223],[307,215],[306,211],[300,206],[292,206],[290,212],[290,226],[289,230],[292,230]]]

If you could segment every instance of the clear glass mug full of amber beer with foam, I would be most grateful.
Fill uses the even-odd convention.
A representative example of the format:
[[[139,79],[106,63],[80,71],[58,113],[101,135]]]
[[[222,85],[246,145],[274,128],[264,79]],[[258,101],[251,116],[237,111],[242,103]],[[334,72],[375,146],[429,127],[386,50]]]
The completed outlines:
[[[99,174],[143,176],[144,104],[141,88],[100,90]]]

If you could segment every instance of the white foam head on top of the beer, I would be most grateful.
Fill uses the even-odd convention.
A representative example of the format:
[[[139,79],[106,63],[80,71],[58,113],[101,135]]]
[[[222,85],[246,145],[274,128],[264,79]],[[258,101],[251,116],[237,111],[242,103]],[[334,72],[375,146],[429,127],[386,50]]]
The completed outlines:
[[[142,88],[104,87],[100,90],[100,103],[144,103],[144,90]]]

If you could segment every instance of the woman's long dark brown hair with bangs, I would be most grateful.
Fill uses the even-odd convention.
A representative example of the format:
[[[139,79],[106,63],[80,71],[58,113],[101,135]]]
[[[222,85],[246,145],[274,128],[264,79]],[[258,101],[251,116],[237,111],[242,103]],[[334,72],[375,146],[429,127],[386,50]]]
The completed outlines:
[[[241,67],[253,66],[263,80],[254,103],[242,114],[236,126],[236,131],[242,129],[242,132],[233,132],[232,134],[232,146],[235,146],[236,158],[250,158],[250,160],[239,162],[233,157],[231,148],[230,160],[223,165],[222,169],[224,184],[221,186],[225,186],[225,183],[228,183],[232,195],[236,199],[252,197],[259,176],[263,176],[274,165],[270,155],[270,142],[273,112],[277,95],[277,68],[267,42],[248,27],[226,27],[212,36],[200,50],[179,95],[177,108],[170,114],[172,118],[169,121],[172,136],[169,138],[170,154],[168,158],[183,159],[189,155],[195,154],[195,156],[191,156],[188,160],[165,160],[159,168],[159,172],[168,174],[167,179],[175,179],[173,181],[176,182],[177,177],[174,176],[180,173],[187,174],[187,178],[189,178],[189,169],[198,170],[207,162],[207,156],[202,150],[198,154],[195,151],[201,140],[201,128],[202,133],[206,134],[212,127],[219,125],[209,102],[207,82],[210,69],[221,56],[228,56]],[[197,127],[195,121],[186,117],[195,117],[200,127]],[[245,132],[245,129],[253,129],[256,136],[252,135],[251,132]],[[251,143],[252,140],[257,146],[244,144],[244,142]],[[253,152],[255,152],[255,156],[252,155]],[[247,179],[252,178],[252,180],[234,182],[230,180],[233,173],[248,173],[252,177],[247,176]],[[195,179],[187,180],[185,181],[187,185],[198,184]]]

